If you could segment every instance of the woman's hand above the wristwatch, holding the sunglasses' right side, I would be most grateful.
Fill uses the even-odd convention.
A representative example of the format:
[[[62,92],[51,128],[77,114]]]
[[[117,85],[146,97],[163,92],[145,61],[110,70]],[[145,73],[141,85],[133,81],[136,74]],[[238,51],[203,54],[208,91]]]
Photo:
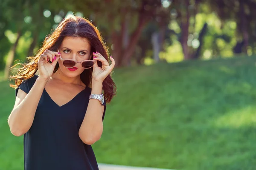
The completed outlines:
[[[107,59],[102,56],[102,54],[96,52],[93,53],[93,60],[102,62],[102,67],[98,66],[98,63],[95,62],[93,65],[93,80],[97,82],[103,82],[103,80],[111,73],[115,66],[115,60],[110,57],[112,63],[109,65]]]

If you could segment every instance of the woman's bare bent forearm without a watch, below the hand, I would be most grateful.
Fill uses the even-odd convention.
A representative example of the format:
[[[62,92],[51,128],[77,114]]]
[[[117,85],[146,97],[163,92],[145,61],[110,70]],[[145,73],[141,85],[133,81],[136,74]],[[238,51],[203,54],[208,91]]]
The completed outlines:
[[[13,135],[21,136],[30,129],[46,83],[47,80],[38,77],[28,94],[18,89],[14,108],[8,118]]]

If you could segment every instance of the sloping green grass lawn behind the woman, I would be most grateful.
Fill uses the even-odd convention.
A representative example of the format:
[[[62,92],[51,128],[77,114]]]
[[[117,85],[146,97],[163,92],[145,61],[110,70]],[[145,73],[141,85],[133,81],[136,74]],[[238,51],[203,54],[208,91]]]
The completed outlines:
[[[116,69],[98,162],[189,170],[256,167],[256,58]],[[23,168],[23,137],[6,119],[15,91],[0,83],[0,170]]]

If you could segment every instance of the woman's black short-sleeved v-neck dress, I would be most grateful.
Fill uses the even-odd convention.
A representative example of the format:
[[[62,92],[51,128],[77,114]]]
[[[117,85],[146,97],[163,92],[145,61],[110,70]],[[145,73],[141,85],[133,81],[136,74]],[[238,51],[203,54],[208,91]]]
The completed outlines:
[[[38,75],[23,81],[16,89],[29,93]],[[58,106],[43,91],[35,118],[24,134],[25,170],[99,170],[93,148],[79,138],[91,88],[86,87],[70,102]],[[105,116],[106,102],[102,121]]]

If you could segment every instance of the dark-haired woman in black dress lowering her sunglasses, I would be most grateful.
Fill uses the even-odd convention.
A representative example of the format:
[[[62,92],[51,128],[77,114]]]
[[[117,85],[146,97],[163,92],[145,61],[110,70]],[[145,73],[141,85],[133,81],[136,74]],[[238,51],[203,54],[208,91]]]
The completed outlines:
[[[17,97],[8,123],[13,135],[24,134],[25,170],[99,169],[91,144],[116,92],[110,59],[97,28],[71,17],[11,77]]]

